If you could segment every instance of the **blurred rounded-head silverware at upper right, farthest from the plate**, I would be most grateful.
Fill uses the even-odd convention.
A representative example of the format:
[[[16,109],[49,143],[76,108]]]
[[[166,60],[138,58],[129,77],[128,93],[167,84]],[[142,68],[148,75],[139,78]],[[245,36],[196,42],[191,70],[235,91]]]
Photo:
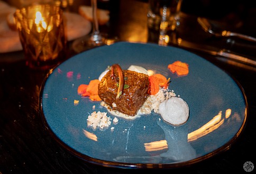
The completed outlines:
[[[239,37],[243,40],[256,42],[255,37],[244,35],[244,34],[241,34],[241,33],[234,33],[234,32],[230,32],[230,31],[226,31],[226,30],[213,31],[213,27],[212,27],[211,23],[209,23],[209,21],[204,17],[197,17],[197,22],[202,26],[202,28],[205,32],[211,33],[211,34],[213,34],[217,37],[234,36],[234,37]]]

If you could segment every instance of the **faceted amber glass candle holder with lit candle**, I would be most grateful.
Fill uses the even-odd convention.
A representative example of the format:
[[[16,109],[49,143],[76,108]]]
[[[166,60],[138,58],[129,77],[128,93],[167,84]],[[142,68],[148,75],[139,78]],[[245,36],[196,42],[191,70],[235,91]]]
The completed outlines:
[[[66,37],[62,10],[53,5],[32,5],[14,14],[26,64],[49,69],[65,58]]]

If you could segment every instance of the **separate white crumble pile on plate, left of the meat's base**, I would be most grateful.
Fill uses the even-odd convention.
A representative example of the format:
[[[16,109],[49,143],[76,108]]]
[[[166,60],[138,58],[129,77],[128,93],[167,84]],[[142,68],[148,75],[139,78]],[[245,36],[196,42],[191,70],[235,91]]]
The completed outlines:
[[[106,112],[96,112],[94,111],[88,116],[87,126],[92,127],[94,130],[99,127],[99,129],[108,128],[111,124],[111,118],[107,117]]]

